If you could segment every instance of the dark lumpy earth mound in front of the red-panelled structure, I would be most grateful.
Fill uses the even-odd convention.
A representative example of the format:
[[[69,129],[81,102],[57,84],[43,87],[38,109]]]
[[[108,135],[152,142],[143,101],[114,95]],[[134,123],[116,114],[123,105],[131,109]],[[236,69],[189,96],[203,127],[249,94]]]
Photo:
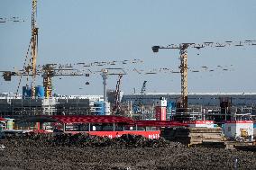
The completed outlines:
[[[20,137],[6,137],[6,146],[30,146],[30,147],[119,147],[119,148],[160,148],[160,147],[181,147],[176,142],[169,142],[165,139],[147,139],[142,136],[131,134],[123,135],[120,138],[109,139],[107,137],[91,136],[86,133],[71,134],[24,134]]]

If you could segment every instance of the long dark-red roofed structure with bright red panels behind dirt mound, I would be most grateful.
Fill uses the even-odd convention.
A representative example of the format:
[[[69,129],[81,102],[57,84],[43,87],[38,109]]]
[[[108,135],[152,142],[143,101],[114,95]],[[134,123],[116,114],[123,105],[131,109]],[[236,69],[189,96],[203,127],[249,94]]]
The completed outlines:
[[[63,125],[64,133],[88,133],[101,137],[115,138],[123,134],[142,135],[149,139],[160,138],[161,127],[187,126],[186,123],[178,121],[134,121],[128,117],[115,115],[55,115],[55,116],[36,116],[30,119],[33,122],[57,122]],[[87,130],[67,130],[67,126],[87,125]],[[100,130],[94,130],[92,127],[97,126]],[[110,127],[111,130],[103,130]],[[147,128],[151,127],[151,130]],[[38,130],[37,130],[38,131]],[[40,130],[39,130],[40,131]]]

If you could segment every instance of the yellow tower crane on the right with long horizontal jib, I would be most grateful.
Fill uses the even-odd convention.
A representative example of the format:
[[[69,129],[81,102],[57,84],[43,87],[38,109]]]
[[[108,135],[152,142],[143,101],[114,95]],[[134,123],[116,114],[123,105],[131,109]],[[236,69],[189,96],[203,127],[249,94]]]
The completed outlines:
[[[244,41],[224,41],[224,42],[203,42],[203,43],[180,43],[170,44],[167,46],[151,47],[154,53],[159,52],[159,49],[178,49],[180,58],[180,74],[181,74],[181,101],[180,109],[182,112],[187,112],[187,49],[203,49],[203,48],[225,48],[225,47],[243,47],[247,45],[256,45],[256,40]]]

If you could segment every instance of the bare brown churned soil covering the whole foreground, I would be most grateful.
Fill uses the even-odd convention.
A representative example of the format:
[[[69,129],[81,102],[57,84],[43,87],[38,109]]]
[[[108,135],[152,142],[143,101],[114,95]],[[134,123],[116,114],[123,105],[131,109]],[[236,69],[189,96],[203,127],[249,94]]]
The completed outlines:
[[[135,136],[32,135],[2,139],[0,169],[256,169],[256,153],[187,148],[164,139]]]

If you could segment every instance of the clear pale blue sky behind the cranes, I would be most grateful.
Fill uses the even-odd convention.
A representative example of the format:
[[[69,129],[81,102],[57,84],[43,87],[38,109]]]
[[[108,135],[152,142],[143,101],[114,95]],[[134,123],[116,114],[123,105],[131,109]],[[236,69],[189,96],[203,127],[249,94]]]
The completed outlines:
[[[23,67],[31,39],[31,11],[31,0],[0,0],[0,17],[25,20],[0,23],[0,70]],[[37,20],[38,64],[142,59],[141,65],[125,65],[128,75],[123,76],[121,87],[125,94],[132,94],[133,88],[139,92],[144,80],[148,81],[147,92],[180,92],[179,74],[129,71],[134,67],[178,70],[178,50],[154,54],[153,45],[256,40],[255,0],[38,0]],[[188,67],[201,71],[188,72],[188,92],[256,92],[256,46],[188,49]],[[114,89],[116,80],[111,76],[107,88]],[[87,81],[90,85],[85,85]],[[12,82],[1,78],[0,92],[15,92],[17,85],[17,76]],[[42,85],[41,77],[37,85]],[[54,77],[53,85],[56,94],[103,91],[99,74]]]

